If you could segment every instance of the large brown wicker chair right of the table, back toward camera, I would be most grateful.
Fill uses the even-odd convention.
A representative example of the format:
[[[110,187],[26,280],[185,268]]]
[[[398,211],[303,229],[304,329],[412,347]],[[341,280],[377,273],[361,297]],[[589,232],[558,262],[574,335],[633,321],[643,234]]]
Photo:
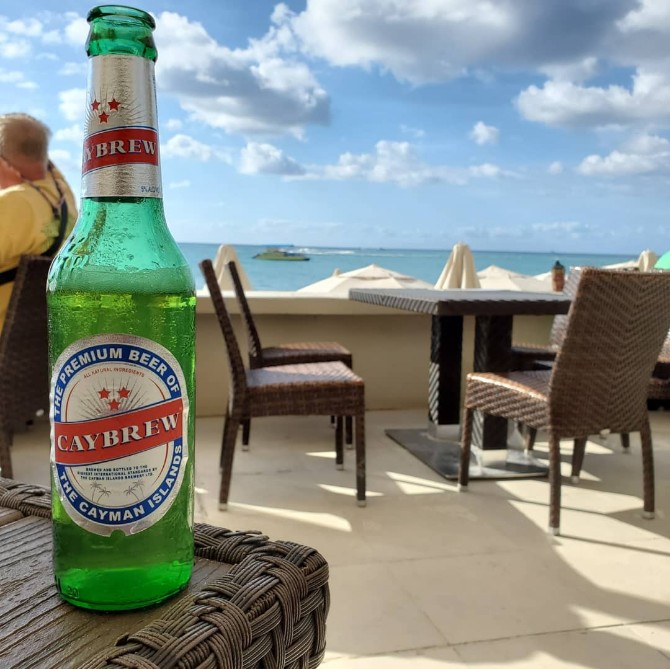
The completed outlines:
[[[654,513],[649,378],[670,326],[670,273],[586,268],[552,370],[468,374],[459,484],[468,485],[475,410],[549,432],[549,528],[560,528],[560,439],[573,438],[573,476],[589,435],[640,432],[644,513]],[[613,336],[613,333],[615,336]]]

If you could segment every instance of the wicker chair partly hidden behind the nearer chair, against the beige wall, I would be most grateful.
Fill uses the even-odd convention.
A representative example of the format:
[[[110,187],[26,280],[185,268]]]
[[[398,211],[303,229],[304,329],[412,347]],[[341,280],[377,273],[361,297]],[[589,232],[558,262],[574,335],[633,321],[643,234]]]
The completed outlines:
[[[279,346],[262,346],[261,339],[254,322],[254,317],[244,292],[244,286],[240,280],[235,261],[226,263],[235,287],[235,295],[240,304],[240,311],[244,319],[244,327],[247,331],[249,344],[249,367],[274,367],[275,365],[299,365],[305,362],[343,362],[347,367],[353,367],[351,352],[342,344],[335,341],[303,341]],[[346,419],[346,442],[351,444],[353,439],[353,428],[351,417]],[[249,444],[249,431],[251,421],[242,423],[242,444]]]

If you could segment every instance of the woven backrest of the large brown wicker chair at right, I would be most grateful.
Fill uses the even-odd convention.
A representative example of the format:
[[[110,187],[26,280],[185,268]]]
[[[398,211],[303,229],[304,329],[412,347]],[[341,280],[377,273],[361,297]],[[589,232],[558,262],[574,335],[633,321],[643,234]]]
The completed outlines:
[[[644,424],[652,370],[670,327],[670,273],[584,268],[550,385],[565,436]]]

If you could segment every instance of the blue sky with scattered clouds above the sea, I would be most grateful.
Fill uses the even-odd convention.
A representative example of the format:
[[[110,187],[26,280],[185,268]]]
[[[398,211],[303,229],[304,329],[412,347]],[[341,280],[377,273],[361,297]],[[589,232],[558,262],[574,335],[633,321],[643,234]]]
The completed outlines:
[[[0,5],[0,112],[77,192],[92,6]],[[136,6],[179,241],[670,248],[670,0]]]

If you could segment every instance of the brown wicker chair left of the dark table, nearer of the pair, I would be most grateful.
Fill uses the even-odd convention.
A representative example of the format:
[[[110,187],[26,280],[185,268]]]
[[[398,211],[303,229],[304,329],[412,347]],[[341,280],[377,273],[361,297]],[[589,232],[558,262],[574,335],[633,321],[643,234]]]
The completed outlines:
[[[226,342],[231,375],[221,444],[219,506],[228,503],[235,441],[239,425],[251,417],[333,415],[335,464],[344,465],[342,417],[355,419],[356,499],[365,506],[365,385],[342,362],[313,362],[245,369],[232,323],[210,260],[200,268]]]

